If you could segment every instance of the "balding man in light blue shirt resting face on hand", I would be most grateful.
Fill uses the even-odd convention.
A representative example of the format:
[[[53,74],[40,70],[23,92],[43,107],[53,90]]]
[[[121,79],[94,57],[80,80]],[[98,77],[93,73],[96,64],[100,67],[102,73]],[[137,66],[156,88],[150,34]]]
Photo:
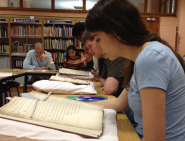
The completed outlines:
[[[42,43],[36,43],[35,49],[30,50],[23,62],[23,69],[27,70],[55,70],[51,53],[44,50]],[[29,81],[49,79],[48,76],[30,76]]]

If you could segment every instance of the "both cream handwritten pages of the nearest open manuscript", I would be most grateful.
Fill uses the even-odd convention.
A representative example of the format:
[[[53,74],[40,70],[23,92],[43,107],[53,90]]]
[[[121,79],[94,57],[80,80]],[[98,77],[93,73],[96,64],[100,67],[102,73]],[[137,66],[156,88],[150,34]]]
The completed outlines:
[[[29,118],[35,101],[23,97],[14,97],[0,109],[0,114]],[[65,98],[63,98],[62,103],[39,100],[32,120],[101,131],[103,110],[88,109],[86,105],[87,103]]]

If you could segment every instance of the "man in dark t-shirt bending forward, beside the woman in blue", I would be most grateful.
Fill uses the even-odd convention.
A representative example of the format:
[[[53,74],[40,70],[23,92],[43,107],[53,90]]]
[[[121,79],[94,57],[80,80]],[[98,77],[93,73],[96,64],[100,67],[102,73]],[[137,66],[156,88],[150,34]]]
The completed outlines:
[[[84,32],[82,42],[84,46],[89,47],[90,52],[97,59],[104,57],[101,47],[95,44],[89,32]],[[125,59],[121,57],[113,61],[104,59],[100,82],[103,86],[102,90],[105,92],[105,94],[114,95],[115,97],[118,97],[121,94],[123,90],[122,71],[124,69],[124,62]]]

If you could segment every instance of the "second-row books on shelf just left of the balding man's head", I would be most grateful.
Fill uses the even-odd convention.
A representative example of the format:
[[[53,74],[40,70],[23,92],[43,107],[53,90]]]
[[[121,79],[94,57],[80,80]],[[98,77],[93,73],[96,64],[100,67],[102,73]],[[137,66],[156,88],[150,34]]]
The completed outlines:
[[[33,44],[23,44],[19,45],[19,43],[14,43],[12,45],[12,53],[19,52],[19,53],[27,53],[28,51],[34,49]]]

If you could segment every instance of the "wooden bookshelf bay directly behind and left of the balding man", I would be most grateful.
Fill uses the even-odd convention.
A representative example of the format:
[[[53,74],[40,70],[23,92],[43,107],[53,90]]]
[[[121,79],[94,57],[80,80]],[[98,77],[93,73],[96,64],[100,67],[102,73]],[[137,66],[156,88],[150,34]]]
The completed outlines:
[[[42,19],[10,19],[10,54],[12,68],[23,68],[26,53],[42,43]]]

